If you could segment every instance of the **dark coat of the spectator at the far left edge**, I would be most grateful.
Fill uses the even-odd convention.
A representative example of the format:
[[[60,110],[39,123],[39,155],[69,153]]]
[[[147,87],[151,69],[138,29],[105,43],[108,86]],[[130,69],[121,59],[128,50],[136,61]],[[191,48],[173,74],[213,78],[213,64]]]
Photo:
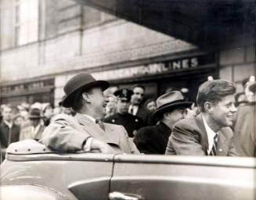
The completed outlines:
[[[2,148],[7,148],[10,143],[19,141],[20,127],[13,123],[13,127],[9,129],[4,121],[0,124],[0,142]]]

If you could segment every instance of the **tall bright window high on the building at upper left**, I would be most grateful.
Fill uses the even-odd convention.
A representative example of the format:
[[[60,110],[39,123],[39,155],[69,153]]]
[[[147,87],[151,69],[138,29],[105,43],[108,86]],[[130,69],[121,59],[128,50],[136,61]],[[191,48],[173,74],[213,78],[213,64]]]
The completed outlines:
[[[14,5],[15,45],[38,40],[38,0],[16,0]]]

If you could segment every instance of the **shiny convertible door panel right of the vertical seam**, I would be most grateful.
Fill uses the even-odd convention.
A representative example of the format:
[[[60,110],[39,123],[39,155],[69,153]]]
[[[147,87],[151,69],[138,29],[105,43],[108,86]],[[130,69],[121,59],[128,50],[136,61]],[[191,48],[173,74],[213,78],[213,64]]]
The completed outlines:
[[[114,199],[254,199],[255,159],[117,155]]]

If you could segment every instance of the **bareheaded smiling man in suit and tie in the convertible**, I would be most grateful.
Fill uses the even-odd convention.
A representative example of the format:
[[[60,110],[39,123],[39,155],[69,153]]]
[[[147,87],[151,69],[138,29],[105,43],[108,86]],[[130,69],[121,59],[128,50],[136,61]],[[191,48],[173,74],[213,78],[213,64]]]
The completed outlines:
[[[200,115],[175,123],[168,140],[168,155],[236,155],[233,145],[235,84],[208,80],[200,85],[197,106]]]

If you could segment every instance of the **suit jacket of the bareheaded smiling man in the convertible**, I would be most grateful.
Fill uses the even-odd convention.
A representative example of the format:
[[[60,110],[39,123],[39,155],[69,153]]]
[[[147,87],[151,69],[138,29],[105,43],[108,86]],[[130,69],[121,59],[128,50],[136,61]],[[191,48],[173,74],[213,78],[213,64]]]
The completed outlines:
[[[168,155],[207,155],[208,137],[201,115],[194,119],[184,119],[175,123],[168,140]],[[233,130],[224,127],[219,131],[217,155],[235,156]]]

